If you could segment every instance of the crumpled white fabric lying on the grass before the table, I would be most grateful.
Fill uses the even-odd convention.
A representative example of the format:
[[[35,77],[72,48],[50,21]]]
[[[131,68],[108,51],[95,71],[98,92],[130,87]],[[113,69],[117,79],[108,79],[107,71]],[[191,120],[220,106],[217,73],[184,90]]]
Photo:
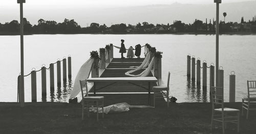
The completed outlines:
[[[129,111],[130,108],[154,108],[153,106],[146,106],[146,105],[129,105],[126,102],[123,103],[117,103],[109,106],[103,107],[104,114],[109,113],[120,113],[123,111]],[[98,108],[99,113],[102,113],[102,108]],[[90,109],[90,111],[97,113],[96,109]]]

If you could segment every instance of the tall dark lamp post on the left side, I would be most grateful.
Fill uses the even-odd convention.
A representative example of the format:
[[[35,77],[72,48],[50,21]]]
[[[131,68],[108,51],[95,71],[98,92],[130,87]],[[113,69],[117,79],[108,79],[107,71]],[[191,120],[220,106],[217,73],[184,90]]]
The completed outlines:
[[[23,51],[23,3],[26,3],[26,0],[17,0],[20,9],[20,106],[24,107],[25,97],[24,97],[24,51]]]

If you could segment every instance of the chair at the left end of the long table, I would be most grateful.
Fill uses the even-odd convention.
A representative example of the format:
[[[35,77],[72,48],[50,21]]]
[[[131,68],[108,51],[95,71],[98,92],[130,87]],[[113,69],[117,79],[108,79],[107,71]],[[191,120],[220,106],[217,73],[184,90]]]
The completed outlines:
[[[99,121],[99,108],[102,108],[102,118],[104,118],[104,97],[103,96],[88,96],[87,80],[80,80],[81,94],[82,94],[82,120],[84,110],[87,110],[88,117],[90,117],[90,109],[97,110],[97,121]],[[86,90],[83,90],[86,88]],[[86,92],[86,93],[84,93]],[[86,94],[86,96],[84,96]]]

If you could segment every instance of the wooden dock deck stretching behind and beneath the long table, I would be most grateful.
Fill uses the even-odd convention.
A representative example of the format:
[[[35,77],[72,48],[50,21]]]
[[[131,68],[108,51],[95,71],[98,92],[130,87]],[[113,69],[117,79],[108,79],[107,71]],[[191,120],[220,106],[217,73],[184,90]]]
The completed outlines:
[[[126,76],[124,73],[130,70],[133,70],[135,68],[130,68],[130,66],[139,66],[141,65],[144,58],[113,58],[111,62],[106,66],[106,68],[101,71],[99,74],[100,78],[105,77],[129,77]],[[139,70],[137,72],[134,72],[133,74],[140,74],[145,69]],[[149,76],[153,76],[152,73]],[[120,99],[122,97],[130,96],[127,99],[128,102],[131,102],[132,104],[141,104],[141,105],[148,105],[152,104],[153,102],[153,93],[152,93],[152,87],[157,85],[157,82],[151,82],[150,83],[150,91],[151,95],[148,96],[148,91],[145,90],[145,88],[148,88],[147,82],[137,82],[137,85],[133,85],[131,83],[127,82],[118,82],[113,85],[109,85],[110,83],[105,82],[97,82],[97,89],[101,88],[100,90],[96,91],[96,95],[102,95],[108,98],[115,98],[113,99],[113,103],[120,103]],[[109,85],[109,86],[108,86]],[[138,86],[139,85],[139,86]],[[106,86],[106,87],[105,87]],[[103,88],[102,88],[103,87]],[[144,87],[144,88],[143,88]],[[91,90],[93,92],[93,90]],[[118,95],[117,95],[118,94]],[[92,93],[91,93],[92,95]],[[112,96],[112,97],[111,97]],[[139,97],[138,100],[141,102],[136,102],[136,97]],[[106,99],[108,99],[106,98]],[[119,98],[119,99],[118,99]],[[148,100],[150,98],[150,100]],[[164,99],[162,99],[162,102]]]

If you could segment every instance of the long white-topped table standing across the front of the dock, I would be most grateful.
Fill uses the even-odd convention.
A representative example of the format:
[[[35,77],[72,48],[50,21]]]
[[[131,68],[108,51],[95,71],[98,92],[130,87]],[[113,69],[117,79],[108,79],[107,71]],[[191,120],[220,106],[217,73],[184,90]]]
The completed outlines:
[[[150,104],[150,99],[151,99],[151,97],[150,97],[150,83],[151,82],[157,82],[157,78],[156,77],[107,77],[107,78],[88,78],[87,81],[94,83],[94,86],[93,86],[94,95],[96,94],[96,91],[98,91],[98,90],[100,90],[104,87],[113,85],[117,82],[127,82],[127,83],[130,83],[130,84],[142,87],[142,88],[144,88],[145,90],[148,91],[148,104]],[[110,83],[110,84],[96,89],[96,82],[105,82],[105,83]],[[136,83],[140,83],[140,82],[141,83],[148,83],[148,88],[145,88],[144,86],[136,84]]]

